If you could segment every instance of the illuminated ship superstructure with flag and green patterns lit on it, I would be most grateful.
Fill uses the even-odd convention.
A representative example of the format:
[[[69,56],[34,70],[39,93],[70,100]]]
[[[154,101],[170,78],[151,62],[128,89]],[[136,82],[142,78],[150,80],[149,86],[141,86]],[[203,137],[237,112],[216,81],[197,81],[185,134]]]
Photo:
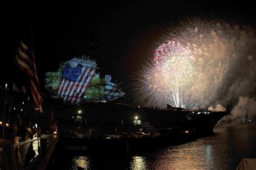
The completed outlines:
[[[96,60],[85,56],[60,64],[57,72],[45,73],[45,88],[64,103],[77,104],[84,100],[113,101],[125,96],[111,76],[100,77]]]

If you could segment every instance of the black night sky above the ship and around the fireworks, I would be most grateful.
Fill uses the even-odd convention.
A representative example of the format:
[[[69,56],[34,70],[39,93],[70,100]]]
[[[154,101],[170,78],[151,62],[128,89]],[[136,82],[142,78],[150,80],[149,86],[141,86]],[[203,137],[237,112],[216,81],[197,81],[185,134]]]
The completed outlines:
[[[74,1],[75,2],[75,1]],[[100,34],[98,50],[92,51],[100,74],[110,74],[122,83],[126,102],[130,102],[131,72],[153,57],[161,43],[161,34],[180,19],[190,16],[224,19],[228,22],[249,23],[255,26],[252,4],[231,4],[233,1],[209,4],[199,1],[87,1],[44,2],[41,4],[8,3],[2,8],[2,55],[0,86],[12,81],[18,88],[29,87],[29,79],[17,69],[12,60],[25,30],[33,20],[33,40],[39,81],[43,89],[43,75],[56,71],[61,61],[87,55],[90,35]]]

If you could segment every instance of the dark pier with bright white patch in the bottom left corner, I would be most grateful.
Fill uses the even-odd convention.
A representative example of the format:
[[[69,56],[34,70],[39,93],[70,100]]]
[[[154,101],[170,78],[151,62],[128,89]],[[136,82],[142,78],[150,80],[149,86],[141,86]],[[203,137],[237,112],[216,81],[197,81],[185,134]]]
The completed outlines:
[[[23,142],[6,139],[0,148],[1,169],[45,169],[58,142],[58,134],[43,134]]]

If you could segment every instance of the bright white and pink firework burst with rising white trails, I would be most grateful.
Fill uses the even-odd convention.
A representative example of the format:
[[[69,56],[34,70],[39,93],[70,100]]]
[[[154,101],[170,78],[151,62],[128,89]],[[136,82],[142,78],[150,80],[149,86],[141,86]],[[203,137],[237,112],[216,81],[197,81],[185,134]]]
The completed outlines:
[[[193,61],[179,42],[169,42],[158,47],[154,60],[137,76],[144,75],[133,84],[139,103],[154,106],[171,104],[185,107],[190,93],[184,91],[193,81]]]

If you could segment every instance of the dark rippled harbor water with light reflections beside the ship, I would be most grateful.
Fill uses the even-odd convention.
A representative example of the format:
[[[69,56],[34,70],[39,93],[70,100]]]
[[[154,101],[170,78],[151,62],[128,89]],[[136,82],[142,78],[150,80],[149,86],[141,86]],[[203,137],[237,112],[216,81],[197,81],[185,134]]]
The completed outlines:
[[[235,169],[242,158],[256,158],[255,144],[256,122],[215,128],[214,134],[207,137],[149,148],[128,158],[55,153],[48,169]]]

